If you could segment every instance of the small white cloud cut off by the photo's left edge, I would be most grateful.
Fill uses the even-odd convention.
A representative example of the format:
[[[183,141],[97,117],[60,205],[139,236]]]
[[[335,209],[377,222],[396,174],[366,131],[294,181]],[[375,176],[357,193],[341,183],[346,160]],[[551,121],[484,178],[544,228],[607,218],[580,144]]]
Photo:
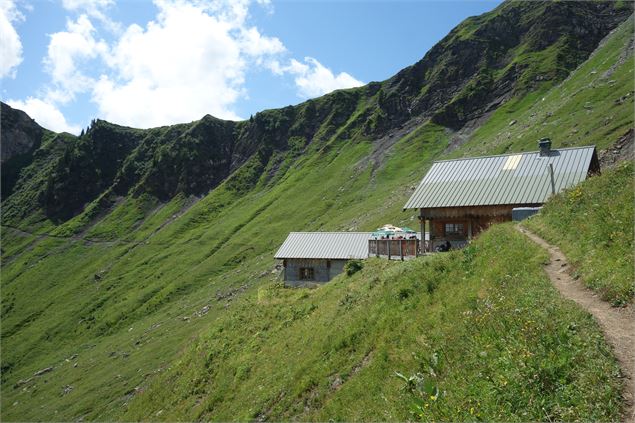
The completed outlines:
[[[0,78],[15,78],[22,63],[22,42],[13,24],[23,19],[13,0],[0,0]]]

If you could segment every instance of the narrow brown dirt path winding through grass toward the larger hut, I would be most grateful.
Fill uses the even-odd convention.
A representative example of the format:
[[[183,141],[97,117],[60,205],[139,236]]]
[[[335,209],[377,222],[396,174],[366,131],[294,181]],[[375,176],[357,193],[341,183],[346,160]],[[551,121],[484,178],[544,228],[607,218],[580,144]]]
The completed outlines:
[[[635,422],[635,310],[633,306],[615,308],[602,301],[593,291],[569,275],[567,258],[556,246],[521,226],[516,228],[532,241],[549,251],[550,261],[545,266],[549,278],[562,296],[578,303],[595,317],[604,331],[604,337],[613,347],[625,379],[624,401],[626,410],[623,421]]]

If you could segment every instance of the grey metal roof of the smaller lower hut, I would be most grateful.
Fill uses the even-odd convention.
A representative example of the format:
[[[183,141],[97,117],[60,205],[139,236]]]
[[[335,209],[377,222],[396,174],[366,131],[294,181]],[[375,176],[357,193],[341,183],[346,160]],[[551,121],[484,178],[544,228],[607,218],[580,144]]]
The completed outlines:
[[[291,232],[274,258],[361,259],[372,232]]]

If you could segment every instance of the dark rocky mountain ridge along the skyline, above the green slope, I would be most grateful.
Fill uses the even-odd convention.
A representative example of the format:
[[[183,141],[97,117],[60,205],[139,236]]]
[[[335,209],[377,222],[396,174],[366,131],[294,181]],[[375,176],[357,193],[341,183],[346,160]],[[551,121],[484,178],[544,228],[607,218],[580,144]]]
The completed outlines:
[[[35,203],[33,196],[29,202],[9,200],[4,215],[15,224],[40,207],[59,224],[97,199],[103,211],[128,193],[148,193],[161,202],[178,193],[202,196],[247,161],[271,171],[274,153],[298,156],[314,144],[325,148],[333,137],[374,140],[381,162],[386,150],[381,146],[390,147],[395,132],[407,135],[428,119],[456,132],[523,90],[564,79],[630,13],[605,2],[506,2],[466,19],[420,61],[384,82],[240,122],[206,115],[190,124],[138,130],[96,120],[82,137],[67,139],[63,155],[51,155],[57,163],[42,177],[46,187]],[[554,57],[544,53],[549,49]],[[12,137],[8,143],[14,143]],[[3,179],[15,181],[3,186],[3,199],[19,183],[22,167],[25,163],[3,172]]]

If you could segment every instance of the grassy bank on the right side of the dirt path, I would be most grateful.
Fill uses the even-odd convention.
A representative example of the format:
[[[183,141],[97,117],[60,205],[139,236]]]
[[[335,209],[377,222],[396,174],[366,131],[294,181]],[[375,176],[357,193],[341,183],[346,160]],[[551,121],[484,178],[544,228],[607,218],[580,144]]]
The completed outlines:
[[[633,163],[563,192],[527,227],[562,247],[576,274],[614,305],[633,301]]]

